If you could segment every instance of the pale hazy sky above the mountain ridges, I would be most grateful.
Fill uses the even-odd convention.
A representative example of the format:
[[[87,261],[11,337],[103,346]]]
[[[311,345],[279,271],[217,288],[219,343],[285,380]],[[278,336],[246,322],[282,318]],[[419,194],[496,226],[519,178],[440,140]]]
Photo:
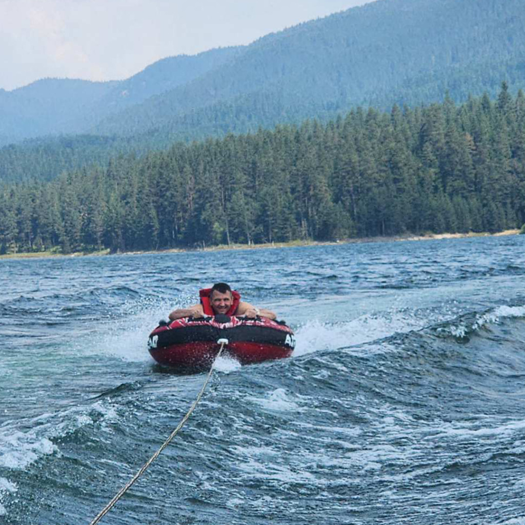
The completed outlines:
[[[370,0],[0,0],[0,88],[127,78]]]

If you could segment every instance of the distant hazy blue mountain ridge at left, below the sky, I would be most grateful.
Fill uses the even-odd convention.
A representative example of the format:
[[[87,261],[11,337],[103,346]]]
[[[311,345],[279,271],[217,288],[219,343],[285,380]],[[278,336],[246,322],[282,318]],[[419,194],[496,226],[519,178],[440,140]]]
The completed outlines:
[[[0,145],[42,135],[82,133],[112,113],[213,70],[241,49],[164,58],[122,81],[48,78],[13,91],[0,90]]]

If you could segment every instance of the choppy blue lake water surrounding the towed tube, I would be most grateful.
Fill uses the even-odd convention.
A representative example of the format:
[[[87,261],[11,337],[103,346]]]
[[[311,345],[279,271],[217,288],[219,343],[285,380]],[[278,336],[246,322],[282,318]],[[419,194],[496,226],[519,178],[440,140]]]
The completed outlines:
[[[228,281],[296,330],[222,359],[104,524],[525,524],[525,236],[0,261],[0,523],[89,523],[205,375],[159,319]]]

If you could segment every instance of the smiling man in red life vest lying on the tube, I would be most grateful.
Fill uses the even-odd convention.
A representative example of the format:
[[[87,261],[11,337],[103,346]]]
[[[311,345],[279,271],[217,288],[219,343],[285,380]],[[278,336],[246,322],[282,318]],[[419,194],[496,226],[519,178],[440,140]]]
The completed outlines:
[[[232,290],[225,282],[217,282],[212,288],[199,291],[201,303],[195,304],[190,308],[178,308],[170,313],[170,319],[181,319],[182,317],[199,318],[204,316],[216,316],[224,314],[226,316],[246,316],[255,318],[257,316],[275,319],[274,312],[265,309],[258,309],[248,302],[240,300],[237,291]]]

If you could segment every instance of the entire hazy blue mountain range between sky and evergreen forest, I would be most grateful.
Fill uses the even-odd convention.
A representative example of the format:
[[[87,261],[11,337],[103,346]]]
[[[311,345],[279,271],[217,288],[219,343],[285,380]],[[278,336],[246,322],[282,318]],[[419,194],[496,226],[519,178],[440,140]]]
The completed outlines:
[[[0,150],[0,180],[41,176],[36,161],[29,172],[22,167],[25,156],[55,155],[64,143],[67,160],[61,155],[57,167],[83,162],[86,141],[103,162],[117,152],[161,149],[174,141],[326,121],[356,106],[416,107],[442,101],[447,92],[457,102],[484,92],[495,96],[503,80],[515,93],[525,86],[522,5],[380,0],[248,46],[161,60],[120,82],[43,80],[0,91],[4,143],[82,133]],[[53,159],[45,164],[46,178],[58,174]]]

